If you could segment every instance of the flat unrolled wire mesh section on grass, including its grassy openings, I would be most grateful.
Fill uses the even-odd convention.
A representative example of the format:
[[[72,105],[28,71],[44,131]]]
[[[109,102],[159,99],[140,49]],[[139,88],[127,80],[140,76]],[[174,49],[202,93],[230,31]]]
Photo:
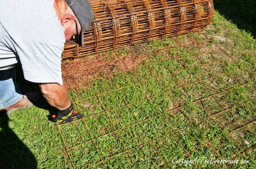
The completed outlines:
[[[236,58],[218,43],[208,46],[211,39],[187,39],[148,53],[136,71],[91,79],[88,90],[74,94],[85,118],[58,125],[71,167],[170,168],[179,166],[177,158],[193,160],[200,152],[255,159],[255,144],[241,143],[256,134],[253,73],[232,67]],[[163,50],[170,55],[161,55]],[[207,164],[220,166],[232,168]]]

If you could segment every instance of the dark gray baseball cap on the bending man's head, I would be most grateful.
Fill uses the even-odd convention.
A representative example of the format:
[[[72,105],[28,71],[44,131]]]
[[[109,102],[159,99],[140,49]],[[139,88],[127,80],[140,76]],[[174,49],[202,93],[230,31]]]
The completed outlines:
[[[75,42],[84,47],[84,32],[88,29],[93,19],[92,6],[88,0],[66,0],[66,2],[74,12],[80,26],[82,27],[79,39]]]

